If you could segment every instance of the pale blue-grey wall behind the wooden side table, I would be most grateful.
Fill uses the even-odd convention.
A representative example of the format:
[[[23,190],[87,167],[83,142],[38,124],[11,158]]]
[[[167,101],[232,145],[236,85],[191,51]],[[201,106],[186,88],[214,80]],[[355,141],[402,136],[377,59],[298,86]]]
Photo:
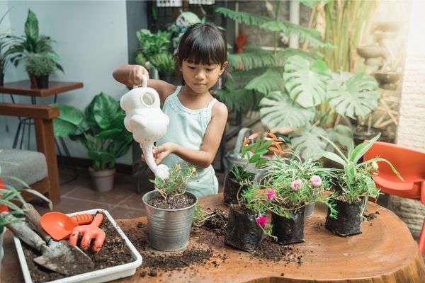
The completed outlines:
[[[57,72],[52,80],[84,83],[84,88],[58,96],[58,103],[83,110],[101,91],[117,99],[127,91],[111,76],[115,67],[128,62],[125,1],[2,1],[1,15],[8,8],[11,11],[5,18],[4,28],[23,35],[30,8],[38,17],[40,33],[56,40],[54,50],[60,54],[65,73]],[[4,28],[2,24],[1,30]],[[23,66],[18,69],[11,66],[6,71],[6,82],[21,79],[28,79]],[[22,103],[30,103],[28,97],[15,97]],[[10,98],[3,95],[0,100],[8,102]],[[40,103],[51,102],[52,98],[40,100]],[[11,147],[16,121],[16,118],[0,117],[0,147]],[[67,141],[67,145],[72,156],[86,158],[83,146],[73,141]],[[130,164],[131,151],[118,162]]]

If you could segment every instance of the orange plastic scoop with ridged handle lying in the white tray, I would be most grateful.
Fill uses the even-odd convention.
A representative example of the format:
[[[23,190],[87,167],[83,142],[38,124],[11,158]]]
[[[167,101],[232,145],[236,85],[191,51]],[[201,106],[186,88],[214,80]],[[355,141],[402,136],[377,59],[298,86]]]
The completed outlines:
[[[91,221],[93,221],[91,214],[67,216],[62,212],[47,212],[41,216],[40,224],[42,229],[52,238],[60,241],[68,238],[75,227],[81,224],[89,224]]]

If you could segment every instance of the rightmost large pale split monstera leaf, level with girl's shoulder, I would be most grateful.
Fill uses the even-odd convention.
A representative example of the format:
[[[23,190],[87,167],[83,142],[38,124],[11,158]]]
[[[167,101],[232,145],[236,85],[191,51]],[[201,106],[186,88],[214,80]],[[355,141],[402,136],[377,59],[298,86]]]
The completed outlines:
[[[364,73],[357,73],[348,79],[341,76],[334,76],[327,87],[329,105],[335,112],[356,119],[378,107],[378,82],[372,76]]]

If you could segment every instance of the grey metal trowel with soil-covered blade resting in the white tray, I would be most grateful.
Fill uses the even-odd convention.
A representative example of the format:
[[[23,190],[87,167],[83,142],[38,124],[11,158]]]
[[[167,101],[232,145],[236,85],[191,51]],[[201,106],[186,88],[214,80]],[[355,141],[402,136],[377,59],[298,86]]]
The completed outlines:
[[[67,276],[80,273],[80,265],[83,267],[94,267],[94,262],[85,253],[78,248],[69,246],[67,241],[53,241],[46,233],[42,233],[45,239],[43,241],[38,236],[38,233],[30,229],[30,226],[25,221],[16,219],[15,216],[8,212],[2,212],[0,215],[12,221],[11,224],[7,225],[7,228],[15,236],[42,254],[38,258],[34,258],[34,262],[38,265]]]

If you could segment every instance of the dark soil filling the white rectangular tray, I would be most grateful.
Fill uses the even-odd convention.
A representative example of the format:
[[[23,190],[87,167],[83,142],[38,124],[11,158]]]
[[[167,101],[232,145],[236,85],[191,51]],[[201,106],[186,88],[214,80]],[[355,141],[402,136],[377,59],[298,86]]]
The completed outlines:
[[[103,268],[113,267],[116,265],[123,265],[135,260],[135,258],[132,257],[130,248],[126,245],[125,240],[121,238],[120,234],[116,231],[115,227],[108,220],[108,217],[106,217],[105,214],[103,214],[103,221],[100,227],[106,233],[106,240],[105,243],[103,243],[101,250],[98,253],[94,253],[91,249],[86,251],[86,254],[89,255],[91,260],[94,262],[94,268],[81,267],[81,272],[77,274],[101,270]],[[38,257],[40,254],[38,252],[34,252],[26,245],[26,243],[21,242],[21,244],[23,246],[23,253],[26,257],[28,269],[30,270],[30,275],[34,283],[48,282],[66,277],[65,275],[47,270],[44,267],[40,267],[40,265],[35,264],[33,259]],[[77,243],[77,245],[79,245],[79,243]]]

